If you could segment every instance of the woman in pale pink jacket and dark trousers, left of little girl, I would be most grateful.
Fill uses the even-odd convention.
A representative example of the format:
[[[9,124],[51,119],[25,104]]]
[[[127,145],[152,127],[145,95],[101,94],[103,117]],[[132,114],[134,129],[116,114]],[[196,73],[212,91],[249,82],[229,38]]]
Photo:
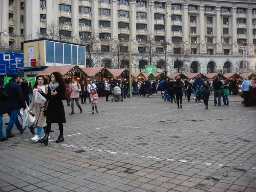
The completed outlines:
[[[80,113],[83,113],[83,110],[79,104],[79,92],[81,91],[81,86],[78,82],[76,82],[75,78],[72,78],[71,80],[71,86],[68,88],[68,90],[71,92],[71,113],[70,115],[74,114],[74,101],[76,101],[77,107],[80,109]]]

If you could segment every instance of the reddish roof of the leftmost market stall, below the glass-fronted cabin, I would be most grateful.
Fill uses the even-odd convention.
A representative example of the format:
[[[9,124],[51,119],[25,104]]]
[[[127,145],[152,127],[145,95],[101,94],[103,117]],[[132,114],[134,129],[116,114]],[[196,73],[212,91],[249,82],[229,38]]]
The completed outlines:
[[[87,73],[85,73],[84,70],[80,68],[78,65],[49,66],[45,70],[41,71],[41,73],[39,73],[38,76],[49,76],[51,75],[51,73],[55,71],[65,76],[71,73],[73,70],[80,70],[83,77],[88,76]]]

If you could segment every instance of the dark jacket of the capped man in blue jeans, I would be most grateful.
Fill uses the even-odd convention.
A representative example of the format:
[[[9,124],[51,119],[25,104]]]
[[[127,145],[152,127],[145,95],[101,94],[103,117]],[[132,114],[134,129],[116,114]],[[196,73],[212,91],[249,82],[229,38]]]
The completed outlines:
[[[6,84],[4,87],[7,95],[9,96],[7,99],[7,107],[9,108],[26,108],[25,99],[19,84],[16,81],[12,80]]]

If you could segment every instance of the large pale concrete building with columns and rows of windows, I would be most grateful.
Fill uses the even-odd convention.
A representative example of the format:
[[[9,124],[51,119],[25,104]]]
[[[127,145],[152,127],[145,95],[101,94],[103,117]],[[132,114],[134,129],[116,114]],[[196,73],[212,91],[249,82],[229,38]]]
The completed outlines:
[[[96,34],[98,48],[105,52],[99,58],[105,67],[114,66],[111,49],[120,41],[127,50],[131,48],[133,71],[138,72],[136,58],[140,60],[147,51],[148,35],[153,35],[157,46],[153,64],[158,72],[164,71],[163,42],[168,43],[169,73],[177,71],[168,57],[174,42],[191,49],[188,73],[239,72],[244,42],[249,70],[256,67],[255,0],[0,0],[2,45],[23,49],[23,41],[49,35],[51,23],[57,23],[54,30],[61,41],[81,43]],[[140,65],[148,63],[147,57],[141,60]],[[128,58],[120,67],[128,67]]]

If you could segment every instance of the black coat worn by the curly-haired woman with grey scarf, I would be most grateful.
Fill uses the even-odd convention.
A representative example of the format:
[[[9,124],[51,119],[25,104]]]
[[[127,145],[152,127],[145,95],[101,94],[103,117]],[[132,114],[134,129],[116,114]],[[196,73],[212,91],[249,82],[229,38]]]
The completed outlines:
[[[66,116],[64,105],[62,103],[62,100],[65,99],[65,86],[60,85],[55,90],[57,91],[55,96],[52,96],[50,87],[48,87],[47,95],[45,93],[41,93],[42,96],[49,100],[47,108],[47,113],[49,115],[47,116],[47,122],[65,123]]]

